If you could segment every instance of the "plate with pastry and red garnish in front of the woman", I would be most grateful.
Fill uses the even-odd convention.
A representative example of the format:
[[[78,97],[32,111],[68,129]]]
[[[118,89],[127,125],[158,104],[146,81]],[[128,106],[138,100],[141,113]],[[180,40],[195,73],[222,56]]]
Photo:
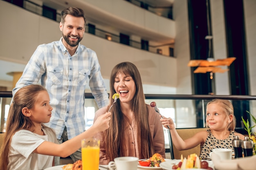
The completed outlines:
[[[138,161],[138,168],[144,170],[162,170],[159,166],[160,163],[170,161],[171,159],[164,159],[159,153],[155,153],[149,159],[140,159]]]

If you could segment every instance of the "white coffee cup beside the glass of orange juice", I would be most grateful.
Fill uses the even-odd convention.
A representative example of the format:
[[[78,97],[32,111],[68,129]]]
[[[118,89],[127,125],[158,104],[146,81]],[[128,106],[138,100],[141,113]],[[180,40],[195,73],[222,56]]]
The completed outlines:
[[[114,170],[111,166],[115,165],[117,170],[137,170],[138,161],[137,157],[117,157],[108,163],[108,168]]]

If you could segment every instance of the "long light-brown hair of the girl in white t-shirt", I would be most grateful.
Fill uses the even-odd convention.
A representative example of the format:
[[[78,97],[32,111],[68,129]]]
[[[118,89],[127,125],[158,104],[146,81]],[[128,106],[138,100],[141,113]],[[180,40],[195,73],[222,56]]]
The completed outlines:
[[[4,142],[2,150],[0,153],[0,169],[7,170],[7,165],[9,163],[9,150],[11,139],[15,132],[21,129],[31,129],[34,127],[33,122],[22,114],[22,108],[33,108],[35,104],[35,98],[40,91],[46,91],[43,86],[40,85],[29,85],[20,88],[13,97],[13,102],[11,103],[9,114],[6,122],[6,132],[4,133]],[[42,124],[43,128],[46,128]]]

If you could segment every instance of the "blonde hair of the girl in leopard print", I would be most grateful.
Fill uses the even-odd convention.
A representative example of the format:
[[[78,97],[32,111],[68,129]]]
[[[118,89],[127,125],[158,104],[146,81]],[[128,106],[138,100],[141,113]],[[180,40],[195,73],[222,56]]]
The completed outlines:
[[[213,99],[211,102],[207,103],[207,106],[213,103],[220,104],[222,106],[222,109],[226,113],[228,119],[230,115],[233,115],[233,120],[231,122],[229,121],[229,124],[227,124],[227,130],[234,131],[236,128],[236,117],[234,115],[234,108],[231,102],[229,102],[229,100],[224,100],[224,99]]]

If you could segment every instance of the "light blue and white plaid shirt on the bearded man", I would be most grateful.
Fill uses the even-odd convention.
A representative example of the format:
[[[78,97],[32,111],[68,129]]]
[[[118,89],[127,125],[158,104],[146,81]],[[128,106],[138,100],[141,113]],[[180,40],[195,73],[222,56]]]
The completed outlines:
[[[68,139],[71,139],[85,130],[84,93],[88,79],[99,108],[108,105],[108,93],[96,53],[79,43],[74,55],[70,56],[61,38],[37,47],[13,89],[13,95],[19,88],[38,84],[41,80],[53,108],[46,125],[56,131],[58,139],[66,126]]]

